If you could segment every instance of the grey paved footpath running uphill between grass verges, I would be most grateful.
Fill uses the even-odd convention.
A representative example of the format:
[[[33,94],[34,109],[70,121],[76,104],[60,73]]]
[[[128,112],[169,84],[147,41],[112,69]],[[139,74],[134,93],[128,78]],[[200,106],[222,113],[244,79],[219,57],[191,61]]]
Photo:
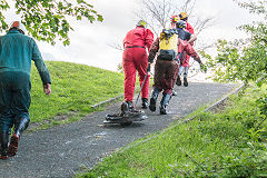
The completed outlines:
[[[212,103],[234,89],[234,85],[191,82],[176,87],[168,108],[170,115],[146,111],[148,119],[129,127],[102,127],[107,113],[119,111],[115,103],[81,121],[24,134],[18,156],[0,160],[1,178],[72,177],[85,167],[92,167],[101,157],[129,142],[166,128],[206,103]],[[161,96],[158,98],[160,101]],[[140,106],[140,103],[139,103]],[[158,107],[158,106],[157,106]]]

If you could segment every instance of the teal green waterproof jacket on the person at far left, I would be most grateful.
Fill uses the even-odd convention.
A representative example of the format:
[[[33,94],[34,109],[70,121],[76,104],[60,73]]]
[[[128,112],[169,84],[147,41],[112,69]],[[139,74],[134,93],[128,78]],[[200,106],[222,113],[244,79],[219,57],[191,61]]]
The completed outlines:
[[[0,37],[0,75],[3,71],[20,71],[30,76],[31,60],[34,61],[42,83],[51,83],[48,68],[32,38],[18,30]]]

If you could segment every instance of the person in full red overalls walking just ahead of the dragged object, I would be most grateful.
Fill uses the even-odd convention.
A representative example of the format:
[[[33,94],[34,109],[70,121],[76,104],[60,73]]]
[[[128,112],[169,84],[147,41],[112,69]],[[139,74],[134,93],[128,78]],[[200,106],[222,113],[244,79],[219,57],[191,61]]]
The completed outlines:
[[[147,49],[149,50],[154,42],[154,33],[146,27],[147,22],[140,20],[136,29],[130,30],[123,39],[125,51],[122,55],[122,66],[125,71],[125,101],[129,109],[134,108],[132,99],[135,93],[136,70],[138,71],[139,83],[141,86],[148,68]],[[141,90],[144,109],[147,109],[149,106],[149,77],[148,75]]]

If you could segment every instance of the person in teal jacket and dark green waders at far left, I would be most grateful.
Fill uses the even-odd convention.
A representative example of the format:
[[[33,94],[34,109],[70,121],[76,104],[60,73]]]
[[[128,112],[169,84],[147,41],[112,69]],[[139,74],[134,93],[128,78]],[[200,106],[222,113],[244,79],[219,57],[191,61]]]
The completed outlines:
[[[30,122],[31,60],[41,77],[43,91],[50,95],[51,79],[38,46],[24,34],[20,21],[14,21],[8,33],[0,37],[0,159],[16,156],[20,136]]]

